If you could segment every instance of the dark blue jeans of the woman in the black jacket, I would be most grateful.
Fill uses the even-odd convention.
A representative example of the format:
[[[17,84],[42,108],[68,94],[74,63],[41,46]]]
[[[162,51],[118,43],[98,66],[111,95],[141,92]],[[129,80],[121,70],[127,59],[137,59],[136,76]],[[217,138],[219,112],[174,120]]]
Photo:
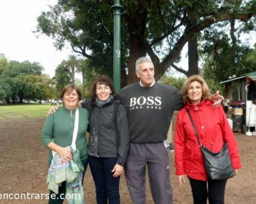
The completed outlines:
[[[112,169],[117,158],[88,157],[93,180],[96,186],[97,204],[119,204],[120,176],[113,177]]]

